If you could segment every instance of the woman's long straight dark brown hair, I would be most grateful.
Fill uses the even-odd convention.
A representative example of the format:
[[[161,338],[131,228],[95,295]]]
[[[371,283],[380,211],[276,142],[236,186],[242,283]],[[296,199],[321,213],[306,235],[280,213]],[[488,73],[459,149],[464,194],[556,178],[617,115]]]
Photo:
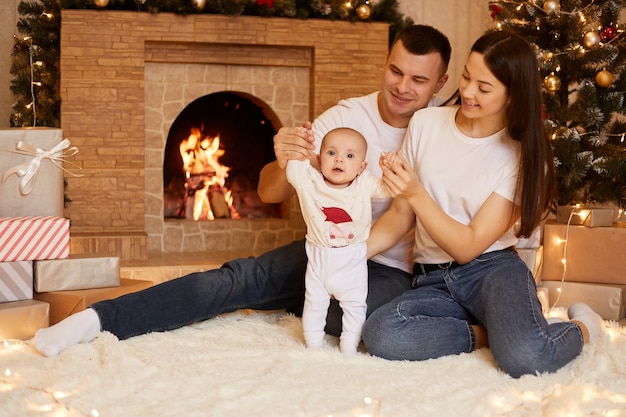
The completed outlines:
[[[528,237],[548,213],[555,191],[552,147],[542,119],[543,99],[537,58],[520,36],[490,31],[472,46],[506,86],[509,135],[522,145],[518,189],[522,189],[519,237]]]

